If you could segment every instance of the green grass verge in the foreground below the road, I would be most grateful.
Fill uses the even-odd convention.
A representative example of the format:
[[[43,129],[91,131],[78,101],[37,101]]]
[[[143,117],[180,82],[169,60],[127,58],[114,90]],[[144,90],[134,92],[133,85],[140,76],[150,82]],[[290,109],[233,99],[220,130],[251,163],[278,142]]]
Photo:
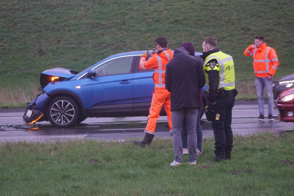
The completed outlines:
[[[171,167],[172,139],[0,143],[0,195],[293,195],[294,132],[234,136],[233,159]],[[91,160],[93,163],[90,163]],[[288,164],[284,164],[288,163]],[[211,166],[211,167],[210,167]]]

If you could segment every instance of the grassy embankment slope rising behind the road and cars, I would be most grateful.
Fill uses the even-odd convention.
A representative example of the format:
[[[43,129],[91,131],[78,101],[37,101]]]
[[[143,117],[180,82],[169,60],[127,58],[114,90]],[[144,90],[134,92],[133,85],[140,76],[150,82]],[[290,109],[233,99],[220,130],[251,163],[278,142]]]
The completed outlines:
[[[233,56],[241,99],[257,97],[247,89],[254,79],[252,58],[243,51],[263,35],[276,49],[280,67],[275,79],[294,72],[292,1],[21,1],[0,3],[0,89],[30,91],[40,72],[63,67],[81,71],[103,58],[154,47],[165,36],[169,48],[182,42],[202,51],[202,39],[215,36],[219,48]],[[29,83],[33,83],[31,88]],[[10,92],[0,104],[14,104]],[[238,97],[236,97],[238,99]],[[22,102],[22,103],[23,103]]]

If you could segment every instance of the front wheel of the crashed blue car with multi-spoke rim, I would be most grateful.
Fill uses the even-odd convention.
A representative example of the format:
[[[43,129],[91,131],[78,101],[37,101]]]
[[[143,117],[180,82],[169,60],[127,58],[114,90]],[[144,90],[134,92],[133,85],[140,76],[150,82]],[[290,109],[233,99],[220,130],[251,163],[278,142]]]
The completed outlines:
[[[56,127],[70,127],[79,119],[79,109],[76,102],[69,97],[56,97],[47,108],[47,118]]]

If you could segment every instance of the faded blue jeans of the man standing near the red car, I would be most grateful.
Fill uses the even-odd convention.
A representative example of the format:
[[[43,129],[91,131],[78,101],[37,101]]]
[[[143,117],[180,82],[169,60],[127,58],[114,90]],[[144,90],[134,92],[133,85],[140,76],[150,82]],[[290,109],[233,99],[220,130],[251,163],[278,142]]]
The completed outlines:
[[[257,92],[257,103],[259,114],[264,115],[263,108],[263,89],[265,88],[266,98],[268,99],[268,115],[273,115],[274,99],[273,99],[273,79],[268,80],[268,77],[255,76],[255,86]]]

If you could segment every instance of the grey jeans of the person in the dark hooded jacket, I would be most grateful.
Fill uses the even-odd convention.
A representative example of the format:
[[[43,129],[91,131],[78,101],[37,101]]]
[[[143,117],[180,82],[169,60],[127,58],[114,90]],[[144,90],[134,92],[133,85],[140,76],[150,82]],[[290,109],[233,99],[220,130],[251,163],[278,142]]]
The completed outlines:
[[[175,153],[175,161],[182,163],[182,125],[184,116],[186,117],[187,130],[189,135],[189,162],[193,162],[197,158],[196,153],[196,123],[198,108],[186,107],[171,111],[171,121],[173,125],[173,152]]]

